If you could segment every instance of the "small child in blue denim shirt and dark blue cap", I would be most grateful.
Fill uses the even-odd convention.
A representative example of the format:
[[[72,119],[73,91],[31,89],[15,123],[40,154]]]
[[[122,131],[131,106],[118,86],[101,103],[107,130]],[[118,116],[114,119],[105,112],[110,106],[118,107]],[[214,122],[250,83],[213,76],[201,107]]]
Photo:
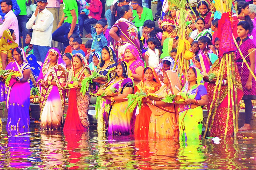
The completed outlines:
[[[93,43],[92,43],[91,53],[89,56],[89,63],[93,61],[92,53],[101,53],[102,48],[108,45],[107,39],[103,35],[103,31],[104,29],[106,29],[105,26],[106,24],[104,22],[98,21],[96,23],[95,28],[92,27],[92,32],[94,29],[96,30],[96,32],[92,33]]]

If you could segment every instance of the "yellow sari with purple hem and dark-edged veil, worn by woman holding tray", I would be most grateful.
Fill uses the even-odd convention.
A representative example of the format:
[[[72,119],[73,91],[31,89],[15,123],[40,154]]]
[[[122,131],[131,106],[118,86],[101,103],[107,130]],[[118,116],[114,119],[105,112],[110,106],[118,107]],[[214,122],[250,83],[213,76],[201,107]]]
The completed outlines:
[[[122,94],[126,87],[133,88],[133,80],[130,78],[131,73],[128,64],[125,61],[121,61],[125,65],[125,71],[127,78],[116,81],[117,77],[113,77],[112,80],[106,86],[107,89],[116,88],[118,94]],[[132,113],[127,110],[128,101],[111,102],[105,100],[102,103],[102,116],[104,118],[104,126],[106,133],[109,135],[121,135],[130,133],[130,121]]]

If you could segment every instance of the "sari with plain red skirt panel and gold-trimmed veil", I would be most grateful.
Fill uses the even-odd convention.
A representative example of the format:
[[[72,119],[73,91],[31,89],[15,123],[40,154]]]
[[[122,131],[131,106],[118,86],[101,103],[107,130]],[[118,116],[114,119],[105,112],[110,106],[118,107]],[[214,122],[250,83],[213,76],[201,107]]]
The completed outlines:
[[[73,57],[78,56],[82,59],[82,68],[75,73],[73,65]],[[81,81],[87,74],[91,74],[91,71],[87,65],[87,60],[81,53],[76,53],[72,57],[71,69],[68,73],[68,82],[73,81],[75,77],[81,84]],[[69,89],[68,111],[65,120],[63,131],[65,130],[86,130],[89,129],[88,110],[90,104],[89,92],[82,95],[80,89]]]

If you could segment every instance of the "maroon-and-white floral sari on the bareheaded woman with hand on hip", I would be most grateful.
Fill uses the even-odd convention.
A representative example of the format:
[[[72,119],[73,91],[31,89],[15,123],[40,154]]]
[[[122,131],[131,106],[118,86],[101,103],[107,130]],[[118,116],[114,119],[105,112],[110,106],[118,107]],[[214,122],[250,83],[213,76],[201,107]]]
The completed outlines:
[[[118,61],[124,60],[124,52],[128,45],[133,45],[138,51],[140,51],[140,43],[138,38],[138,30],[134,23],[130,22],[125,18],[120,18],[113,25],[113,27],[118,28],[118,36],[122,35],[126,38],[127,41],[123,41],[122,44],[118,47],[117,41],[114,41],[114,49],[117,55]]]

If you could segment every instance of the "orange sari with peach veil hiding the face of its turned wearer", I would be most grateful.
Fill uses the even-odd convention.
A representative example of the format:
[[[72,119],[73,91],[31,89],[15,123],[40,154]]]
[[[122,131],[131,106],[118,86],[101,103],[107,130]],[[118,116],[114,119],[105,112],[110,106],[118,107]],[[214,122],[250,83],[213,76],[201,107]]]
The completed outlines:
[[[180,92],[180,80],[178,74],[174,70],[165,72],[169,82],[170,89],[167,85],[163,85],[155,92],[158,97],[165,98],[167,94],[177,94]],[[169,107],[149,105],[151,117],[149,121],[150,138],[173,139],[178,137],[178,119],[177,109],[174,104],[169,104]]]

